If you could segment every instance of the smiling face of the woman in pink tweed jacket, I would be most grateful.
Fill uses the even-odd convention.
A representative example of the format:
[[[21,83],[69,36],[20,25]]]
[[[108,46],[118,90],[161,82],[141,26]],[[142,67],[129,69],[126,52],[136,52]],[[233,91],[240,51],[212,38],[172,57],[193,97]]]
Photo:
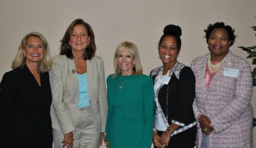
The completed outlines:
[[[211,52],[211,58],[220,59],[221,61],[227,55],[230,43],[231,40],[229,40],[229,34],[225,28],[215,28],[212,30],[208,39],[208,48]]]

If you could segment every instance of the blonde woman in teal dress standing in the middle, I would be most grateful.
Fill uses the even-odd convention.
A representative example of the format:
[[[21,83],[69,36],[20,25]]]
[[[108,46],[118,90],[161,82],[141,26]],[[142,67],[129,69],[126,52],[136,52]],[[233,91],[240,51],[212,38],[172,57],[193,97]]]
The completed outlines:
[[[151,147],[154,91],[151,77],[142,74],[135,44],[123,42],[114,56],[115,73],[108,76],[107,147]]]

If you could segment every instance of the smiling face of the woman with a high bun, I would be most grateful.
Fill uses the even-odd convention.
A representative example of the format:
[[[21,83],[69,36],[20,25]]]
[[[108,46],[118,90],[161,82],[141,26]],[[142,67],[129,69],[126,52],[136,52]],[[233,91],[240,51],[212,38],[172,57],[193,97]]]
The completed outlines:
[[[166,36],[159,46],[159,56],[163,65],[174,65],[177,61],[178,46],[174,36]]]

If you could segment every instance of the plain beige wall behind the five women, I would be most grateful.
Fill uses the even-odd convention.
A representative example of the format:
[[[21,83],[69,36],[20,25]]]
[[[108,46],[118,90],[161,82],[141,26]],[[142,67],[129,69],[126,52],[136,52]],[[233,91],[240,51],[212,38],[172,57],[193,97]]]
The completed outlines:
[[[103,57],[106,76],[113,73],[113,52],[124,40],[135,43],[139,48],[146,75],[161,65],[157,57],[157,43],[167,24],[177,24],[182,28],[182,50],[178,60],[184,64],[190,65],[192,59],[207,53],[203,30],[209,23],[217,21],[235,28],[238,38],[231,51],[245,58],[246,53],[237,47],[256,45],[256,32],[250,28],[256,26],[255,8],[255,0],[1,0],[0,79],[11,70],[11,61],[25,34],[31,31],[43,34],[54,56],[59,52],[59,40],[76,18],[91,24],[96,36],[96,54]],[[254,114],[255,92],[254,88],[251,101]]]

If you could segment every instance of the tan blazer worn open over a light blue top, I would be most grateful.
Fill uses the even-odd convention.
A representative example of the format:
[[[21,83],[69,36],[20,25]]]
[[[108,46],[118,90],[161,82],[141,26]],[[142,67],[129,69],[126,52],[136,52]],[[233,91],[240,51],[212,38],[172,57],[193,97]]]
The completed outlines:
[[[108,104],[103,59],[94,56],[87,60],[86,66],[94,126],[96,131],[101,129],[101,132],[104,132]],[[54,129],[66,134],[76,129],[73,115],[78,103],[79,89],[74,60],[69,59],[66,55],[54,56],[49,75],[53,94],[50,110],[52,125]]]

